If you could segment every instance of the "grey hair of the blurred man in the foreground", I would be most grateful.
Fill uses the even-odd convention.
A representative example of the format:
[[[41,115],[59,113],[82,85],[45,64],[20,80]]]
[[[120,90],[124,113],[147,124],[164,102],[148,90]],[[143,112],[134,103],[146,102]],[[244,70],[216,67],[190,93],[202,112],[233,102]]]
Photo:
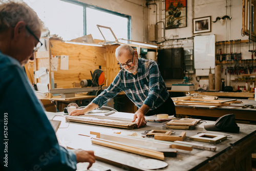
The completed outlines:
[[[44,30],[42,21],[26,3],[8,1],[0,4],[0,33],[15,27],[20,21],[24,21],[34,33]]]

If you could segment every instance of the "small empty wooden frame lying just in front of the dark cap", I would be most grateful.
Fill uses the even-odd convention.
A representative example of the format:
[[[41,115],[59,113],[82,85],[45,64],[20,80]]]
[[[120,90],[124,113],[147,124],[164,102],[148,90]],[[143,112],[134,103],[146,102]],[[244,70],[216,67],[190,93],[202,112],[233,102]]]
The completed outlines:
[[[225,135],[200,133],[200,134],[191,136],[189,138],[194,140],[194,141],[209,142],[209,143],[219,143],[219,142],[227,139],[227,136],[225,136]]]

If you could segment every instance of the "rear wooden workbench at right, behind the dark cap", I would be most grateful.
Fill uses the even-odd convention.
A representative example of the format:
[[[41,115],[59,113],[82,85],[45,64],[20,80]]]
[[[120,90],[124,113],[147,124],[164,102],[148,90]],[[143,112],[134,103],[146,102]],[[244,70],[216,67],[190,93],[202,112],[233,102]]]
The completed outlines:
[[[219,98],[219,100],[228,100]],[[256,107],[256,101],[248,99],[238,99],[242,101],[243,105],[253,105]],[[191,116],[206,116],[206,117],[221,117],[226,114],[236,115],[236,119],[244,121],[256,121],[256,108],[242,108],[236,106],[222,106],[219,108],[209,108],[208,106],[202,105],[175,105],[176,114],[191,115]]]

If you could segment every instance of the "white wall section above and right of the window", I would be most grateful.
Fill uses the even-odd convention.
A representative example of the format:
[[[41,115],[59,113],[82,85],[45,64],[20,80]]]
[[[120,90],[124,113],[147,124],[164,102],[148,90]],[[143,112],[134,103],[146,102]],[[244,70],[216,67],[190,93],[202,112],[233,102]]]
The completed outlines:
[[[79,2],[131,16],[132,40],[147,41],[148,15],[145,0],[79,0]]]

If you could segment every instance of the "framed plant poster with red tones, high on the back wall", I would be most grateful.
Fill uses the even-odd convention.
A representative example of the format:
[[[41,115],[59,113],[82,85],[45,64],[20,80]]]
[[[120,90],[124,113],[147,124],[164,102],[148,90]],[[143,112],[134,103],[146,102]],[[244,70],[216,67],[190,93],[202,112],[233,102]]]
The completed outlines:
[[[165,29],[187,27],[186,5],[186,0],[165,0]]]

